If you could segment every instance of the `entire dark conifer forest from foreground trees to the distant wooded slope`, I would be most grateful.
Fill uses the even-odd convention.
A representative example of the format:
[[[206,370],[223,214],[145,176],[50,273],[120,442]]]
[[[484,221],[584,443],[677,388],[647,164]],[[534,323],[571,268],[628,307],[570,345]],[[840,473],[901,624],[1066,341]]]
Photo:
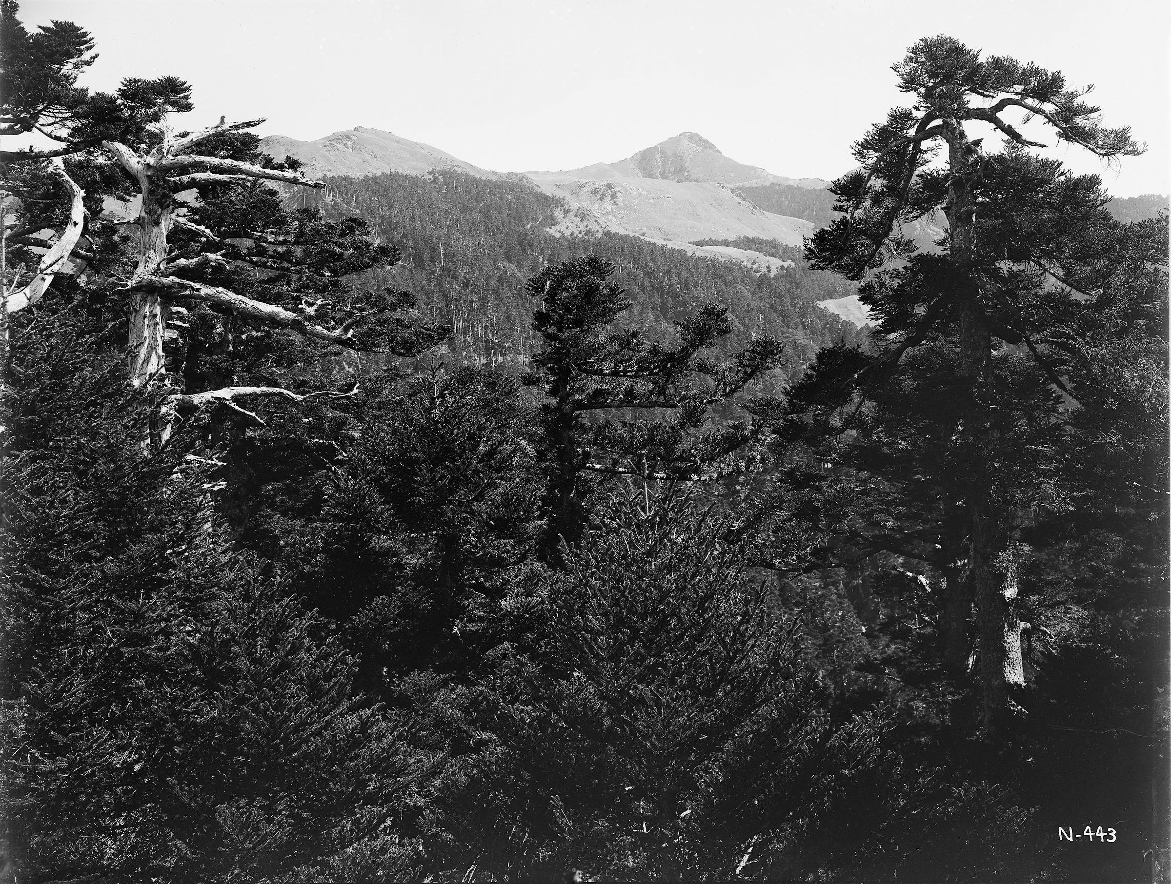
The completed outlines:
[[[6,880],[1169,879],[1167,218],[1060,73],[915,43],[754,274],[0,9]]]

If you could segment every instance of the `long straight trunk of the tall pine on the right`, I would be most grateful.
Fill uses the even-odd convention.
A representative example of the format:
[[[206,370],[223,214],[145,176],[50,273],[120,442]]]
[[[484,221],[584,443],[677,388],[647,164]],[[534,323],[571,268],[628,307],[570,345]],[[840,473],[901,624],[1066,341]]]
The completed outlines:
[[[979,173],[979,157],[968,144],[958,121],[947,121],[949,183],[947,215],[951,256],[960,272],[957,292],[960,304],[960,376],[966,382],[964,445],[967,450],[966,508],[968,513],[968,562],[971,590],[980,612],[980,683],[984,694],[984,726],[995,739],[1005,720],[1018,707],[1009,697],[1011,685],[1025,683],[1021,624],[1016,616],[1016,553],[1007,541],[1012,535],[1007,512],[994,501],[998,444],[991,400],[993,390],[992,331],[980,302],[979,282],[973,276],[973,225],[975,199],[972,185]]]

